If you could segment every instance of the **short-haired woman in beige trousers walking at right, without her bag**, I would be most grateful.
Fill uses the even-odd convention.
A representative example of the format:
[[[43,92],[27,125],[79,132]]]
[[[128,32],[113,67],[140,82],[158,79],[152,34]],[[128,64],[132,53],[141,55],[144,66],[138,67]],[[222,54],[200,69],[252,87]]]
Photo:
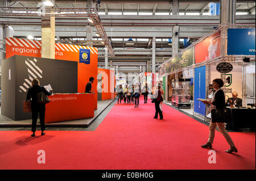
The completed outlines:
[[[225,94],[224,94],[224,91],[221,90],[221,87],[224,86],[224,82],[222,81],[222,79],[216,78],[213,80],[212,84],[213,84],[213,89],[216,90],[213,94],[212,101],[204,100],[203,103],[211,104],[215,106],[216,109],[224,109]],[[216,126],[218,126],[218,129],[220,130],[221,134],[226,138],[226,141],[228,141],[228,144],[230,145],[230,149],[225,151],[227,153],[232,153],[233,151],[237,152],[237,148],[234,145],[232,138],[229,136],[229,133],[226,131],[225,123],[212,123],[212,121],[210,121],[210,126],[209,126],[210,132],[209,132],[208,142],[204,145],[201,145],[201,147],[212,148]]]

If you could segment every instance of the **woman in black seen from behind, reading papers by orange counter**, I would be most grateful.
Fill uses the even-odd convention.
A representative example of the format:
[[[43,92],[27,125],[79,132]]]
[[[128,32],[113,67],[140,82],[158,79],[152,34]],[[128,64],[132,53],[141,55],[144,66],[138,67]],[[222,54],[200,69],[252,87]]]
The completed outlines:
[[[44,134],[44,130],[46,130],[45,128],[45,124],[44,124],[44,115],[46,113],[46,104],[42,104],[42,103],[38,103],[38,93],[39,92],[44,92],[44,94],[46,95],[51,95],[52,94],[51,90],[50,92],[48,92],[46,89],[44,89],[44,87],[40,86],[40,82],[37,78],[33,79],[32,81],[32,87],[30,89],[28,89],[27,92],[27,99],[26,100],[31,100],[31,110],[32,110],[32,129],[31,131],[33,132],[33,134],[31,134],[31,136],[35,136],[35,131],[36,131],[36,122],[38,120],[38,112],[39,112],[39,117],[40,117],[40,125],[41,125],[41,136],[43,136]]]

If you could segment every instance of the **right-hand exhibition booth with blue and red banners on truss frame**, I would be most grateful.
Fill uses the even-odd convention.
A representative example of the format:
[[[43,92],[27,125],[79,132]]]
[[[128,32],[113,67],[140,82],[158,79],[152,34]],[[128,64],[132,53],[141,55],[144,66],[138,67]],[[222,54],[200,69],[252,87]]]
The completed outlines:
[[[242,99],[243,108],[233,111],[243,109],[250,114],[247,104],[255,108],[255,26],[220,24],[160,65],[159,77],[163,78],[167,103],[184,111],[191,109],[192,115],[203,120],[210,120],[210,108],[197,99],[211,98],[215,78],[224,81],[226,100],[232,98],[232,92]],[[239,128],[255,128],[250,120]]]

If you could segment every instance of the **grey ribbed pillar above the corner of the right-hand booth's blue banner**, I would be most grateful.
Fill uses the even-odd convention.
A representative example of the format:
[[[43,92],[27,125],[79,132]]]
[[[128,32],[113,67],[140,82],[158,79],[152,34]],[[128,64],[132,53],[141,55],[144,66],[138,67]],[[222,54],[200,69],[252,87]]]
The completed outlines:
[[[221,23],[236,23],[236,0],[220,0]]]

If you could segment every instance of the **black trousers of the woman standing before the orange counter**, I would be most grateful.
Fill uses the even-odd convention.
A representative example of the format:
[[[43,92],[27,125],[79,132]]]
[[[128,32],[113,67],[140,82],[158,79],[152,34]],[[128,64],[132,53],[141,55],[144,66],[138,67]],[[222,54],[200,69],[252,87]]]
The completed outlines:
[[[46,130],[46,125],[44,123],[44,116],[46,115],[46,105],[40,105],[38,107],[32,108],[32,129],[31,132],[36,131],[36,122],[38,121],[38,113],[40,117],[41,131]]]

